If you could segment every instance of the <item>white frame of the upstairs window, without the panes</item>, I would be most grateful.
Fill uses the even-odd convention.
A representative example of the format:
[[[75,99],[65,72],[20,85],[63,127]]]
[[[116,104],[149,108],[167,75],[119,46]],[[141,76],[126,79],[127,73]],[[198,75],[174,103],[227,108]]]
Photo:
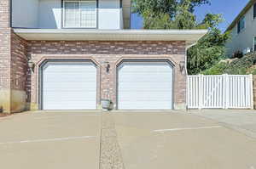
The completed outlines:
[[[79,2],[79,7],[80,7],[80,2],[82,1],[95,1],[96,2],[96,26],[95,27],[67,27],[65,26],[65,3],[66,2]],[[99,0],[61,0],[61,29],[98,29],[98,8],[99,8]],[[81,8],[79,8],[79,11]],[[80,24],[81,24],[81,19],[80,19]]]

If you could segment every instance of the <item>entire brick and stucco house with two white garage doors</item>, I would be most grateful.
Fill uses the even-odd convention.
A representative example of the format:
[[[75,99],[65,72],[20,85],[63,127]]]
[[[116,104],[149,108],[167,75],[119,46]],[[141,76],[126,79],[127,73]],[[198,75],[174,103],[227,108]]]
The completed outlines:
[[[131,0],[1,0],[0,106],[186,106],[186,49],[207,31],[130,30]]]

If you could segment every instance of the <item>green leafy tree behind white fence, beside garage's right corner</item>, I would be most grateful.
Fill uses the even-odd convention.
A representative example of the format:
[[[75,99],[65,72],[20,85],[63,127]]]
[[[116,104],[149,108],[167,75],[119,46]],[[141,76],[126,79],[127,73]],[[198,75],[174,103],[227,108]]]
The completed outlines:
[[[205,19],[195,27],[209,31],[188,50],[189,74],[198,74],[217,64],[220,59],[224,59],[224,45],[230,36],[229,32],[222,34],[218,29],[217,26],[222,21],[221,14],[207,14]]]

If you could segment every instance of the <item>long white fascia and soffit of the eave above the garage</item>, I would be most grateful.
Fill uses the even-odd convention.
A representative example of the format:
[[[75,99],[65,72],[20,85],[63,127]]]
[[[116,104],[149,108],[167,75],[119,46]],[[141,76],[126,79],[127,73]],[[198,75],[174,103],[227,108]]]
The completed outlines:
[[[197,42],[207,30],[14,29],[26,40],[43,41],[185,41]]]

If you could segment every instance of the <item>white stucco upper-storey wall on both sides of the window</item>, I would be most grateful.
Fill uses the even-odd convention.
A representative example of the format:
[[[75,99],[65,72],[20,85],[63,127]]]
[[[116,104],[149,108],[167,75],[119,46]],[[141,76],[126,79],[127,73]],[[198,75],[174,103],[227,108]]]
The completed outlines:
[[[13,0],[13,26],[61,29],[61,0]],[[122,29],[120,0],[99,0],[98,28]]]

